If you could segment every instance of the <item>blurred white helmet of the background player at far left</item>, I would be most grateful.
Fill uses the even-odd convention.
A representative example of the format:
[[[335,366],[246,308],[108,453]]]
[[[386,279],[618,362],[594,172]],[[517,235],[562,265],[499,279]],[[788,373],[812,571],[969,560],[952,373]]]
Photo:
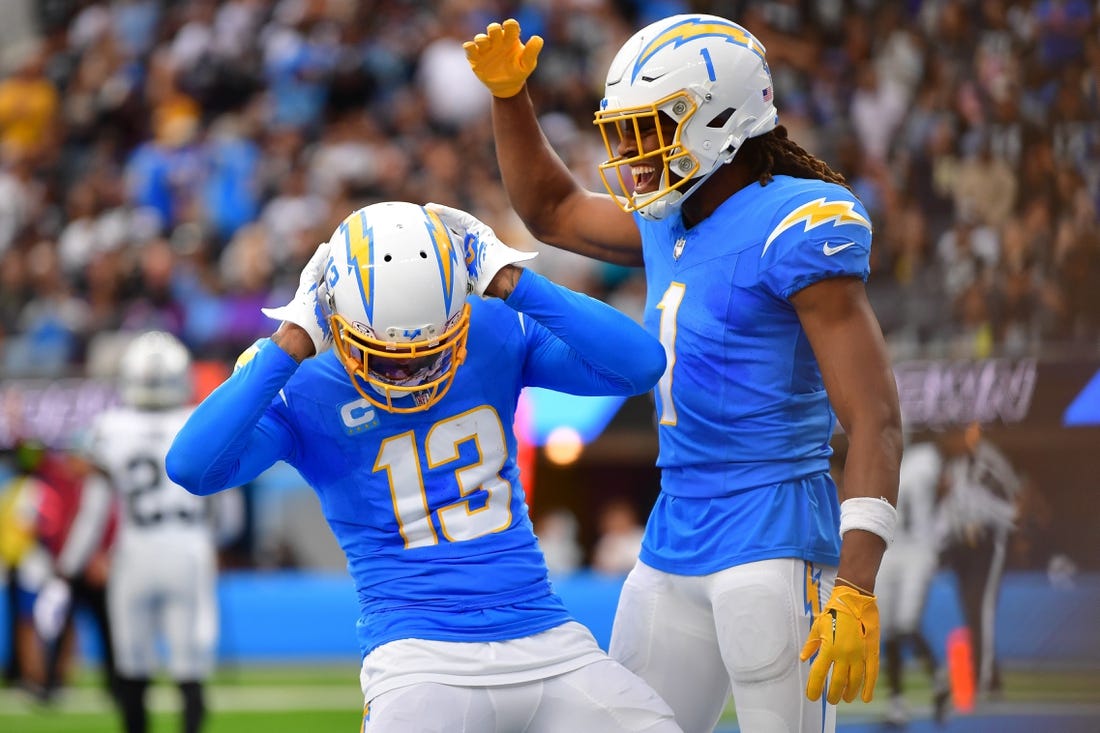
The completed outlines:
[[[167,331],[135,336],[119,359],[119,394],[139,409],[165,409],[191,400],[191,355]]]

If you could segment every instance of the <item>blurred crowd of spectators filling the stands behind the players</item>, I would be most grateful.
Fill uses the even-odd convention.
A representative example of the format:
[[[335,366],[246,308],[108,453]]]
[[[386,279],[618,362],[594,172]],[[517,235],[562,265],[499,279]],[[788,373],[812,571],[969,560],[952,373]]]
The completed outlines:
[[[6,0],[0,373],[95,373],[111,333],[150,328],[230,360],[374,200],[459,206],[535,248],[462,42],[509,15],[546,39],[536,109],[598,188],[609,54],[680,11],[765,42],[781,122],[871,211],[895,358],[1100,350],[1094,2]],[[637,273],[541,249],[640,311]]]

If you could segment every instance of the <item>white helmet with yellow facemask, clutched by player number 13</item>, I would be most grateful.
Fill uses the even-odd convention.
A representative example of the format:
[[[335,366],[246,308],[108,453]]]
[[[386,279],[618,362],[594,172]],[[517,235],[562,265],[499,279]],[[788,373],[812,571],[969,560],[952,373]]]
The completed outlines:
[[[428,409],[466,355],[462,242],[433,211],[403,201],[353,211],[330,241],[332,341],[352,384],[387,412]]]

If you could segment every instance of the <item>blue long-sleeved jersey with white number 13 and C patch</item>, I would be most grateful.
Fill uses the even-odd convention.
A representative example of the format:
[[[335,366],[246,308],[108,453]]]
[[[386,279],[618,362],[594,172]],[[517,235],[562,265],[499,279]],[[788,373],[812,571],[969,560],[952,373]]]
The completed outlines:
[[[520,390],[638,394],[663,369],[661,346],[627,316],[530,271],[507,302],[471,306],[466,360],[426,412],[374,407],[334,351],[298,365],[265,339],[168,455],[195,493],[277,460],[299,471],[346,555],[364,656],[399,638],[499,641],[569,621],[514,459]]]

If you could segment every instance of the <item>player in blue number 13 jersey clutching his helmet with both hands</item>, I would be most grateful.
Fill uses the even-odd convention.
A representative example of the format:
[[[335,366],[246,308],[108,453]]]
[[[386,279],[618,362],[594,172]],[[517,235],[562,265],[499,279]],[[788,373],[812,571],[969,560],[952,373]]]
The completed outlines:
[[[199,494],[279,460],[314,488],[359,593],[367,732],[680,730],[553,592],[512,429],[522,387],[639,394],[663,349],[528,256],[455,209],[354,211],[168,453]]]

